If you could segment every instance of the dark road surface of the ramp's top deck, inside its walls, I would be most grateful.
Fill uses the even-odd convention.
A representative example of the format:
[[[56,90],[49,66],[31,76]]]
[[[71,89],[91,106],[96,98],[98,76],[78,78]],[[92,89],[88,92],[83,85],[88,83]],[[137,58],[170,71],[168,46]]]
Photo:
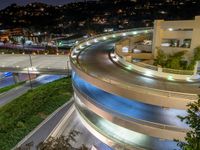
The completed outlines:
[[[114,64],[109,59],[116,40],[107,40],[92,45],[79,55],[79,63],[89,73],[100,77],[112,79],[133,86],[140,85],[154,89],[200,94],[200,83],[181,83],[167,80],[154,79],[142,76],[136,72],[130,72]]]

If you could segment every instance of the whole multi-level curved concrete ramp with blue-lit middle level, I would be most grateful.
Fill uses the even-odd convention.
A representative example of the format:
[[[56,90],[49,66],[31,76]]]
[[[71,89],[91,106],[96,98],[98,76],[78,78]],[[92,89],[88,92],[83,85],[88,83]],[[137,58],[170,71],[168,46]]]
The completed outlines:
[[[88,128],[94,128],[105,136],[111,134],[110,139],[114,141],[115,138],[119,140],[120,135],[113,137],[115,133],[109,131],[119,128],[119,132],[128,130],[130,134],[127,136],[131,132],[136,132],[133,135],[139,133],[147,136],[146,141],[139,144],[140,148],[147,146],[154,138],[161,147],[163,140],[176,147],[173,139],[184,140],[185,133],[190,130],[177,116],[186,115],[186,105],[198,99],[199,82],[172,82],[146,77],[115,63],[110,56],[115,43],[126,35],[137,36],[135,31],[125,32],[117,33],[117,36],[116,33],[97,36],[72,49],[71,65],[77,110],[83,120],[90,124],[86,125]],[[142,35],[148,31],[140,33]],[[113,129],[106,129],[106,122]],[[123,140],[126,141],[126,138],[122,137],[122,143]],[[157,147],[150,144],[147,149]]]

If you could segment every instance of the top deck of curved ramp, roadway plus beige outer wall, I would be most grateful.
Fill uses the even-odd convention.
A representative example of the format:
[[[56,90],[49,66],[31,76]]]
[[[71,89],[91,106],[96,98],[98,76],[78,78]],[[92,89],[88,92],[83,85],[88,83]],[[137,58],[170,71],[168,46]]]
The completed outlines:
[[[99,41],[84,48],[78,53],[76,60],[79,69],[72,64],[73,69],[84,80],[101,89],[148,104],[186,109],[189,102],[198,99],[199,82],[172,82],[150,78],[116,65],[110,59],[110,52],[119,39]],[[104,81],[111,84],[108,85]],[[132,88],[135,89],[131,91]]]

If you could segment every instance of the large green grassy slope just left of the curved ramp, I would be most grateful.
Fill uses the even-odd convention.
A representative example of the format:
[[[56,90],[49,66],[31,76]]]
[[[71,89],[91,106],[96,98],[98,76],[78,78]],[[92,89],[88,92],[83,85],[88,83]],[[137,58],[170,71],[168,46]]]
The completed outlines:
[[[72,96],[71,78],[41,85],[0,108],[0,150],[9,150]]]

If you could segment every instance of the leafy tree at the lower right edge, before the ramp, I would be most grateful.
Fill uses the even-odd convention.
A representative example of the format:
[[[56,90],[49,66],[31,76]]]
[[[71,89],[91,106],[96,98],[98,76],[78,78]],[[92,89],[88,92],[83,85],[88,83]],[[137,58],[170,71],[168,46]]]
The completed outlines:
[[[188,115],[178,117],[181,121],[185,121],[191,130],[187,132],[185,142],[176,141],[182,150],[200,150],[200,98],[198,101],[190,103],[187,106]]]

